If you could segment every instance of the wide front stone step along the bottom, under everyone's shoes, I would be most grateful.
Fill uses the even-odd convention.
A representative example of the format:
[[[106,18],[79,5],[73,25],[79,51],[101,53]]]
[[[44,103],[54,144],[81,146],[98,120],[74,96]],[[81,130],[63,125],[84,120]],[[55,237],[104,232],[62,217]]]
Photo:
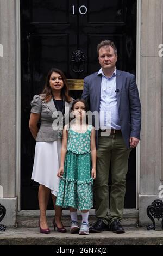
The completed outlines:
[[[7,228],[0,232],[0,245],[163,245],[163,231],[147,231],[146,228],[124,227],[126,233],[115,234],[111,231],[90,233],[89,235],[59,233],[51,229],[50,234],[41,234],[39,228]]]

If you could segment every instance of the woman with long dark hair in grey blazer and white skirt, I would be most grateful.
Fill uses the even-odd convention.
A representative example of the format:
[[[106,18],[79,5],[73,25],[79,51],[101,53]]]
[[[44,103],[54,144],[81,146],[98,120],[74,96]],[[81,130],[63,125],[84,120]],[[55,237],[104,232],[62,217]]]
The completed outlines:
[[[57,172],[60,166],[62,143],[61,126],[66,124],[66,119],[69,120],[72,105],[66,77],[61,70],[53,68],[49,71],[42,94],[35,95],[31,105],[29,129],[36,140],[32,179],[40,184],[38,195],[40,233],[50,233],[46,220],[50,191],[55,209],[54,229],[56,226],[57,231],[66,232],[61,222],[62,208],[55,206],[60,181]],[[41,119],[40,129],[37,127],[39,119]]]

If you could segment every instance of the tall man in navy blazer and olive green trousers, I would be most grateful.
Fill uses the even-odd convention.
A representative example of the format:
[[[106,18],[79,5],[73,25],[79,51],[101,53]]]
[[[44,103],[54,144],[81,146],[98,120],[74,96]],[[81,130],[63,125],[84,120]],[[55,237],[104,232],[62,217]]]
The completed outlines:
[[[82,95],[90,102],[91,112],[99,112],[99,131],[96,131],[97,176],[93,191],[97,221],[91,231],[108,230],[109,224],[109,230],[124,233],[120,221],[124,209],[128,158],[131,149],[137,147],[140,140],[141,105],[135,76],[116,69],[117,49],[114,42],[102,41],[97,45],[97,54],[101,69],[84,79]],[[111,114],[110,120],[107,119],[108,113]],[[110,166],[112,186],[109,216]]]

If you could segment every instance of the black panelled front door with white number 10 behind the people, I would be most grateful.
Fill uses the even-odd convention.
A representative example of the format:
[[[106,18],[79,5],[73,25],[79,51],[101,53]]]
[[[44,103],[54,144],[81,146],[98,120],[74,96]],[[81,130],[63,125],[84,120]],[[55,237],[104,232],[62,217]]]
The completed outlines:
[[[117,68],[135,74],[136,0],[20,0],[20,3],[21,209],[38,209],[38,184],[30,180],[35,149],[28,128],[30,101],[33,95],[41,93],[47,72],[53,67],[64,71],[70,83],[76,79],[71,94],[74,98],[81,96],[77,83],[99,70],[96,46],[105,39],[115,42]],[[127,174],[126,208],[135,208],[135,159],[133,150]]]

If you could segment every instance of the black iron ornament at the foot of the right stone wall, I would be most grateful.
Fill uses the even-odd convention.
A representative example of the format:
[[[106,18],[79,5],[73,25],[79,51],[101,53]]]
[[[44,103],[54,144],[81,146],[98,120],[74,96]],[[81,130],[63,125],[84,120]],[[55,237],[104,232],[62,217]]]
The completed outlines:
[[[161,225],[163,229],[163,202],[161,200],[154,200],[152,204],[147,207],[147,215],[152,221],[152,224],[147,225],[147,230],[155,230],[154,218],[157,218],[158,221],[162,218]]]

